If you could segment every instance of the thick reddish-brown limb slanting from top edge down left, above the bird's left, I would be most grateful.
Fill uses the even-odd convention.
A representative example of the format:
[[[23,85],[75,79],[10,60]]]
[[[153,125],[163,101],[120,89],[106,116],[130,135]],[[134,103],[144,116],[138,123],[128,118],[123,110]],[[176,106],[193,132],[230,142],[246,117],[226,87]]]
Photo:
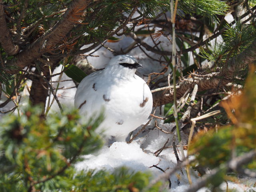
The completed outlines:
[[[92,1],[93,0],[72,1],[65,14],[62,16],[62,19],[50,30],[46,31],[44,35],[40,36],[34,43],[28,46],[28,48],[20,52],[17,56],[17,61],[11,65],[24,68],[45,52],[51,51],[51,49],[74,27],[88,4]],[[16,71],[11,71],[10,73],[14,74]]]

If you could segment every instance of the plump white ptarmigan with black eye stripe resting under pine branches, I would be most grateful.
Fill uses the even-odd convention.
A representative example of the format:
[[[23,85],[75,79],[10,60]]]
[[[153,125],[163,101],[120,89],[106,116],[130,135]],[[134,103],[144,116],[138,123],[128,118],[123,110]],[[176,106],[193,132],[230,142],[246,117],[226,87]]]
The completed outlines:
[[[78,85],[74,104],[80,115],[90,117],[104,108],[97,128],[107,138],[125,141],[129,132],[146,122],[153,100],[146,82],[135,74],[142,65],[130,55],[118,55],[104,70],[86,76]]]

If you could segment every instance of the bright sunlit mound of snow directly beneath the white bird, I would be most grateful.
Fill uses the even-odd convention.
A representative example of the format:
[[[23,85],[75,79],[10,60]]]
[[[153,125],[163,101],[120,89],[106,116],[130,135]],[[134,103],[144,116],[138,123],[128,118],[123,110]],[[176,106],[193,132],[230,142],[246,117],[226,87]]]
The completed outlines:
[[[125,165],[134,170],[145,171],[160,161],[160,158],[153,154],[144,153],[137,142],[131,144],[114,142],[109,148],[104,146],[97,155],[87,155],[84,158],[83,162],[76,165],[78,170],[103,168],[112,171],[114,168]]]

